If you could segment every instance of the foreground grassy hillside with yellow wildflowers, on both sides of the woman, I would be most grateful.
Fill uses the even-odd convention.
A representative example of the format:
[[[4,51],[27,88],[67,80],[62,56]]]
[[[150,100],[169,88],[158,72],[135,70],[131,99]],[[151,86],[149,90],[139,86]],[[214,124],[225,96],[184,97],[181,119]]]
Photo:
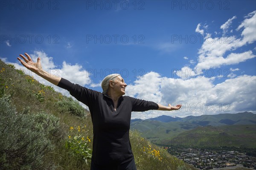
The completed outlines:
[[[90,170],[90,113],[0,60],[0,170]],[[194,170],[134,130],[138,170]]]

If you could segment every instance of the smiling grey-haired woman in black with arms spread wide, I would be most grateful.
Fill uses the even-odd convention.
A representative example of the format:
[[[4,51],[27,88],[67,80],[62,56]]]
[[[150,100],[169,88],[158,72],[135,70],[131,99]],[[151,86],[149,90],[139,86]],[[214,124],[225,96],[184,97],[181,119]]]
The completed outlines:
[[[181,105],[166,107],[155,102],[135,99],[125,94],[124,79],[119,74],[111,74],[102,81],[103,92],[93,91],[73,84],[61,77],[55,77],[41,67],[41,59],[33,62],[31,57],[20,54],[17,58],[27,69],[38,74],[58,87],[70,92],[88,106],[93,122],[93,154],[91,170],[136,170],[129,140],[132,111],[172,111]]]

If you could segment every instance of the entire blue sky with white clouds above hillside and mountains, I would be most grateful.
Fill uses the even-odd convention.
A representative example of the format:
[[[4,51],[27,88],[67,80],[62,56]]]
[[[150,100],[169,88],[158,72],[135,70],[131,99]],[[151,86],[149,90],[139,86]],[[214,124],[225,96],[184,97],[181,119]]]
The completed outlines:
[[[0,36],[16,68],[26,52],[87,88],[118,73],[128,96],[183,105],[132,118],[256,112],[255,0],[1,0]]]

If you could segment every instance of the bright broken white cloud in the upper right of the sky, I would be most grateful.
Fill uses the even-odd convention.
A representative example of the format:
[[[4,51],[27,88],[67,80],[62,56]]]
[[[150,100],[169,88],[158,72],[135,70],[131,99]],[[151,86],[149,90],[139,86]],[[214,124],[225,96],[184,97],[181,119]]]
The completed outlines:
[[[229,19],[221,26],[226,30],[235,17]],[[232,52],[246,44],[255,42],[256,40],[256,12],[248,14],[245,20],[237,28],[237,31],[243,29],[241,38],[232,35],[230,37],[205,37],[204,43],[198,51],[197,69],[218,68],[221,65],[232,65],[244,62],[247,59],[254,58],[252,51],[241,52],[240,54],[231,53],[227,56],[227,52]],[[210,34],[208,34],[210,35]]]

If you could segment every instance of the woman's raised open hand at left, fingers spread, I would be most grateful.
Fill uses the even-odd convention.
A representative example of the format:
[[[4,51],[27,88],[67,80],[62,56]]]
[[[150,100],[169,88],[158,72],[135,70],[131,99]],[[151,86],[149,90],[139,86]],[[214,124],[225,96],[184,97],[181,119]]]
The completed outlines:
[[[17,59],[20,61],[20,63],[22,65],[24,65],[24,67],[26,67],[27,69],[29,69],[30,71],[32,71],[34,73],[38,73],[39,71],[42,71],[40,57],[38,57],[37,62],[33,62],[31,57],[29,56],[29,54],[25,53],[25,55],[27,58],[24,57],[22,54],[20,54],[20,57],[22,57],[25,62],[22,59],[20,59],[19,57],[17,57]]]

